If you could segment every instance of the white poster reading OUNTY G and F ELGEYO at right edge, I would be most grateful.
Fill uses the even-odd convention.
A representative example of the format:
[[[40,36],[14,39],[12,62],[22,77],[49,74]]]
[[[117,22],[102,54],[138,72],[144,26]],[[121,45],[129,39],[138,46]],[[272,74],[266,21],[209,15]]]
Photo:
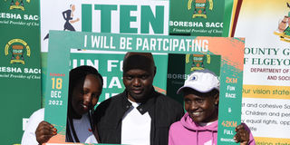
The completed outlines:
[[[242,121],[256,144],[290,142],[289,4],[243,0],[237,21],[235,36],[247,40]]]

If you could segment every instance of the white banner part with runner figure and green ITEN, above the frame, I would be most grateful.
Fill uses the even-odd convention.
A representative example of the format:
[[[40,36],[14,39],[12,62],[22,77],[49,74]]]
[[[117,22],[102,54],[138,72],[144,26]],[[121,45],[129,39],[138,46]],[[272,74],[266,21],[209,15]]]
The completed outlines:
[[[42,52],[48,51],[49,30],[169,34],[169,1],[42,0]]]

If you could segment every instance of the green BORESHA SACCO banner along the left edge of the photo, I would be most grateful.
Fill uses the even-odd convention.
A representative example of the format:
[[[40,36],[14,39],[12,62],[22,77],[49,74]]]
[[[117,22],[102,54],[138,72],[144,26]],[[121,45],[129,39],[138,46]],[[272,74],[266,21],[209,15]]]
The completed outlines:
[[[39,1],[0,1],[1,144],[21,142],[41,106]]]

